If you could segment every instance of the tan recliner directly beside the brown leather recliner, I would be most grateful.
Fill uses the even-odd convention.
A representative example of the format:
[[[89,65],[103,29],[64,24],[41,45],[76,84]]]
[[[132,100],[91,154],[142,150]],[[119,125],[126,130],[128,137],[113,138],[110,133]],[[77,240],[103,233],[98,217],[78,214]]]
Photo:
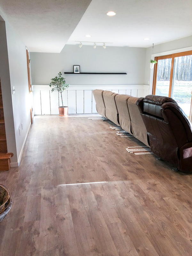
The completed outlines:
[[[143,142],[145,145],[149,146],[147,129],[141,117],[140,110],[136,104],[138,99],[139,98],[137,97],[130,97],[127,100],[129,114],[131,117],[131,131],[135,138]]]

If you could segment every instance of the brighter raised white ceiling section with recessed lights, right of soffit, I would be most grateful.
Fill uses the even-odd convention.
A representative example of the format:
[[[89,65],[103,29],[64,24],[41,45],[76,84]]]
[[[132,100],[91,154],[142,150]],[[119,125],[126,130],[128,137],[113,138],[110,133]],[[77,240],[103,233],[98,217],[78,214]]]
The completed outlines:
[[[191,20],[192,0],[92,0],[67,44],[149,47],[192,35]]]

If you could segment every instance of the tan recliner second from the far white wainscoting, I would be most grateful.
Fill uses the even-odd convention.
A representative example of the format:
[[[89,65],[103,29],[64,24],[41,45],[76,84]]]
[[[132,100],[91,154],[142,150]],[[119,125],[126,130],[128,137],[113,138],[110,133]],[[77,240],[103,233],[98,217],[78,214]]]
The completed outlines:
[[[103,91],[103,99],[105,103],[105,116],[116,125],[119,125],[118,110],[115,102],[115,96],[117,94],[118,93],[114,93],[111,91]]]

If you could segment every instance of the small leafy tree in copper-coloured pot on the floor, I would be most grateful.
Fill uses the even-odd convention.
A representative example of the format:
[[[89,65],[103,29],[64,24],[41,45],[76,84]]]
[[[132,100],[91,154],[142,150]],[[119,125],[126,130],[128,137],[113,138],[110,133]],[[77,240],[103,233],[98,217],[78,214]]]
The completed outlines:
[[[55,76],[54,78],[51,79],[51,83],[49,86],[51,87],[52,92],[59,92],[61,95],[62,106],[59,107],[59,115],[67,116],[68,115],[68,107],[63,106],[62,92],[64,92],[69,87],[69,84],[65,83],[65,78],[62,77],[61,72],[58,73],[58,76]],[[58,93],[58,97],[59,97],[59,93]]]

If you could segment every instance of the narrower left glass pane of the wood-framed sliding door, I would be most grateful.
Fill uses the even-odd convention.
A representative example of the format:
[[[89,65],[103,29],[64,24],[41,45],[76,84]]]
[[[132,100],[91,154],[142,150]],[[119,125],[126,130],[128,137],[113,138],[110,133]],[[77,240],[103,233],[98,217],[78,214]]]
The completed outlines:
[[[156,95],[169,96],[172,59],[158,60],[156,77]]]

